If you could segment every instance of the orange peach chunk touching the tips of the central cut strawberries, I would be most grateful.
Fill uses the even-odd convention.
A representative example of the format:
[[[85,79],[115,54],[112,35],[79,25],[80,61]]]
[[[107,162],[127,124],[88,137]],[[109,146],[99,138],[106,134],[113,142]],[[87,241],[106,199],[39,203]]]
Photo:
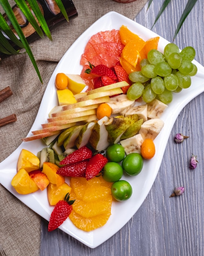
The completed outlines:
[[[56,184],[57,186],[62,185],[65,182],[64,176],[57,174],[59,166],[50,162],[44,162],[42,167],[42,173],[45,173],[50,183]]]

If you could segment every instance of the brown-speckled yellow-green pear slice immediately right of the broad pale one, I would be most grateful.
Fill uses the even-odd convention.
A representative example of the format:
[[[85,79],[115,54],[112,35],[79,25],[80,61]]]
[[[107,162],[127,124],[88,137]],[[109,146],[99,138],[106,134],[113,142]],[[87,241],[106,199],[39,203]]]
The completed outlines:
[[[131,126],[134,119],[130,117],[111,117],[106,123],[105,128],[108,132],[108,141],[116,144],[120,141],[123,133]]]

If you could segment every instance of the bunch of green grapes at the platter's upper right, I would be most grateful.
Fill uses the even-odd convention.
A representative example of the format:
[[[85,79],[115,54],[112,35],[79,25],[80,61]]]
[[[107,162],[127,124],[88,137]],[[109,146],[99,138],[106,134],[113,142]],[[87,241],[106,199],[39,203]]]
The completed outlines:
[[[180,52],[177,45],[169,43],[164,54],[152,49],[147,59],[140,61],[141,71],[129,74],[133,84],[127,91],[127,97],[136,100],[140,97],[149,103],[155,98],[165,104],[173,99],[173,92],[191,86],[191,76],[197,73],[197,67],[192,63],[195,49],[187,46]]]

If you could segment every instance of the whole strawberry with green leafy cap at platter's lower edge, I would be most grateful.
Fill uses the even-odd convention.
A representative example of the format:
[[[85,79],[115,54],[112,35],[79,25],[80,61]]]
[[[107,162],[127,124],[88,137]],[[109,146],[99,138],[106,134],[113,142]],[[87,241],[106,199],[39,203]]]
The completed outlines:
[[[57,229],[69,216],[72,212],[72,204],[75,200],[69,201],[69,193],[65,195],[64,200],[60,200],[53,209],[50,215],[50,221],[48,223],[48,231],[53,231]]]

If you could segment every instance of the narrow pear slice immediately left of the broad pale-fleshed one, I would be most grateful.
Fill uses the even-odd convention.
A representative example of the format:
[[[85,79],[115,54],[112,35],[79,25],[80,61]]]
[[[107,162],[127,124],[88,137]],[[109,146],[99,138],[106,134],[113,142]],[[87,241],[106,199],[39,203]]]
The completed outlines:
[[[96,120],[90,121],[82,127],[77,139],[75,140],[75,145],[77,146],[77,148],[81,148],[82,146],[85,146],[86,144],[88,144],[92,129],[94,128],[94,125],[96,123],[97,123]]]

